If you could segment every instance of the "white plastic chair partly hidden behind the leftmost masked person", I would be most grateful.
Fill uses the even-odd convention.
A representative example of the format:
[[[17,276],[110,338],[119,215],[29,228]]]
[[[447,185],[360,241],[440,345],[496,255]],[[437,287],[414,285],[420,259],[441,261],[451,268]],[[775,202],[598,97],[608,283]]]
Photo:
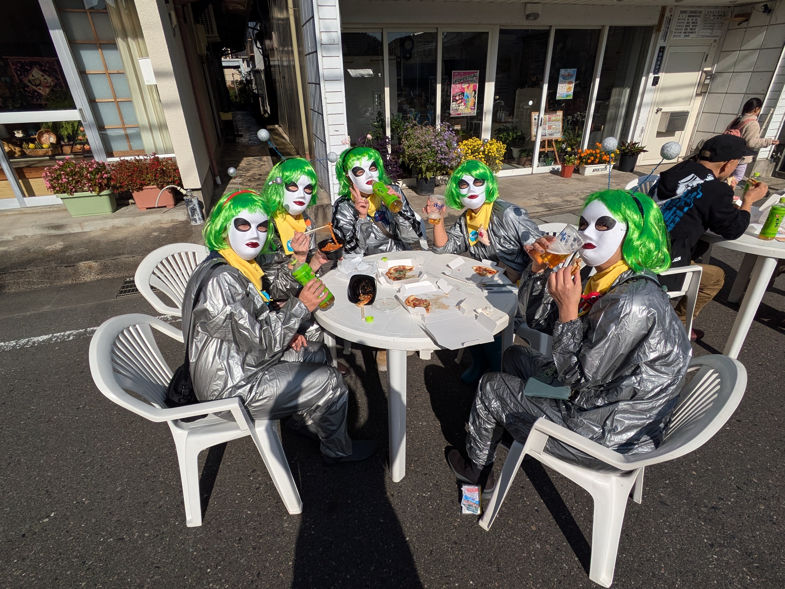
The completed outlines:
[[[210,251],[196,243],[170,243],[144,257],[133,276],[137,290],[164,315],[182,316],[183,296],[188,279]],[[152,291],[155,287],[171,298],[177,307],[166,305]]]

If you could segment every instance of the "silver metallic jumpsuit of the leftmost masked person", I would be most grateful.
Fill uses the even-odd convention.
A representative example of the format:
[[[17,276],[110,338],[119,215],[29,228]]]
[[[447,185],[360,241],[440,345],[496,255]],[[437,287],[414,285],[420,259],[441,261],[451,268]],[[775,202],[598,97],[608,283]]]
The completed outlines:
[[[299,352],[289,342],[311,316],[297,298],[274,313],[239,270],[218,265],[193,313],[193,295],[210,265],[207,258],[185,289],[183,333],[190,342],[191,378],[199,401],[242,397],[253,419],[300,415],[319,434],[330,457],[352,453],[346,433],[349,390],[332,366],[330,351],[310,342]]]

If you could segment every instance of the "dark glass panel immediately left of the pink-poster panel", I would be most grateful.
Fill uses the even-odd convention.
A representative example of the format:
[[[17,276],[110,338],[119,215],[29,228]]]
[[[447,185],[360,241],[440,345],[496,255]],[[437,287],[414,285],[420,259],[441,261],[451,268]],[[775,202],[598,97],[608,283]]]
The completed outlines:
[[[387,33],[390,133],[408,121],[436,123],[436,33]]]

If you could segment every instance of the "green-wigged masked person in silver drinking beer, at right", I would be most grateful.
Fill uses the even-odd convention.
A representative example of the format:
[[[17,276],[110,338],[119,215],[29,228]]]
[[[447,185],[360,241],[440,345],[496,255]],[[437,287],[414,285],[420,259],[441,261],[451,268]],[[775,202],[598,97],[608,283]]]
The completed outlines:
[[[596,192],[586,199],[579,230],[586,240],[581,257],[597,269],[585,286],[577,265],[552,271],[539,258],[553,236],[526,247],[533,262],[521,278],[519,305],[523,312],[537,309],[541,319],[554,317],[553,357],[510,346],[504,372],[485,375],[477,387],[469,459],[447,448],[456,477],[479,482],[486,496],[495,486],[503,430],[524,442],[543,417],[616,452],[649,452],[663,440],[684,382],[692,346],[655,277],[670,266],[659,209],[643,194]],[[569,397],[524,395],[535,376],[555,377]],[[557,441],[546,452],[583,466],[604,464]]]

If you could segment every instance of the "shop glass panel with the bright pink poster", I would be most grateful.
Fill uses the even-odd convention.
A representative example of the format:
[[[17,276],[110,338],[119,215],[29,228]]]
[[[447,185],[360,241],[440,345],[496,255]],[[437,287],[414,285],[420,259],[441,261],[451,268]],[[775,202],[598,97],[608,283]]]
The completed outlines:
[[[464,137],[481,137],[487,32],[442,33],[441,122]]]

